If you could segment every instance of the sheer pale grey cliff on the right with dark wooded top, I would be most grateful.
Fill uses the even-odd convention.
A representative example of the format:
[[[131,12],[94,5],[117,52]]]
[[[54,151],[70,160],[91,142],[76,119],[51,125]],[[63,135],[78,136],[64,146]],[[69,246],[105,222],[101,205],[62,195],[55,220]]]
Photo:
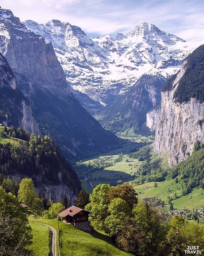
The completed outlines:
[[[198,49],[200,53],[195,56]],[[199,76],[203,77],[201,72],[203,72],[204,46],[198,49],[186,58],[181,70],[169,82],[169,88],[161,93],[159,120],[158,113],[156,113],[156,116],[151,118],[152,121],[155,121],[154,124],[148,121],[150,128],[153,129],[156,125],[154,151],[159,154],[169,151],[169,166],[174,166],[181,160],[186,159],[192,153],[194,144],[198,141],[204,141],[203,100],[191,97],[188,101],[179,102],[180,98],[177,93],[178,87],[181,87],[181,79],[184,79],[184,76],[188,77],[188,81],[190,81],[192,74],[196,74],[197,80]],[[197,59],[194,59],[194,56]],[[197,64],[201,67],[199,73],[196,73],[196,69],[194,69]],[[201,82],[202,80],[200,79],[199,81]],[[203,86],[203,84],[199,84],[200,86]],[[186,86],[181,94],[189,95],[193,90],[197,91],[197,88],[194,87],[194,84],[191,84],[191,87]],[[177,95],[177,98],[175,95]],[[153,112],[148,114],[147,118],[150,119],[151,115],[153,115]]]

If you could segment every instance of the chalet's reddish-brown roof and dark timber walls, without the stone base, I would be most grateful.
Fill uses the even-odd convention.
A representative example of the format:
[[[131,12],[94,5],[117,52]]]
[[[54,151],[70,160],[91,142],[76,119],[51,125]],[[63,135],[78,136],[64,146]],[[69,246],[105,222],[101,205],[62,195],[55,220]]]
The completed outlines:
[[[63,212],[60,212],[59,216],[62,217],[62,221],[66,223],[72,223],[75,226],[75,224],[78,222],[88,222],[89,213],[91,212],[76,206],[71,206]]]

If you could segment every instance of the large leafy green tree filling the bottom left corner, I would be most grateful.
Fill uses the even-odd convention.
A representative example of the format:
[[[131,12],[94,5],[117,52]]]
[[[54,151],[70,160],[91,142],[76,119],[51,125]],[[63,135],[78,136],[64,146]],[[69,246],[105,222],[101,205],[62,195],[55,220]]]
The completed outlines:
[[[17,198],[0,187],[0,256],[31,255],[31,227]]]

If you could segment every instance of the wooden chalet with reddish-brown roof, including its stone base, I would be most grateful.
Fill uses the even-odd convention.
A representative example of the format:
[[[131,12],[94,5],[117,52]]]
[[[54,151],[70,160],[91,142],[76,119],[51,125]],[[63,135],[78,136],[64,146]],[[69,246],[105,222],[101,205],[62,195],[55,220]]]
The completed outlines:
[[[76,206],[71,206],[68,209],[65,209],[63,212],[60,212],[59,216],[62,217],[63,222],[73,224],[75,227],[81,230],[91,231],[92,227],[88,223],[88,215],[90,213],[91,212]]]

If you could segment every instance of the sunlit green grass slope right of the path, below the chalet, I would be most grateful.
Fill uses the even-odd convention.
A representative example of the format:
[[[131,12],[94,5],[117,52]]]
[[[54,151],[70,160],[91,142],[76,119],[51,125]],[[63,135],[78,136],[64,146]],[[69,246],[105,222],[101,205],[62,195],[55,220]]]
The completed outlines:
[[[34,219],[34,222],[43,222],[53,226],[57,233],[57,220]],[[132,254],[119,250],[111,239],[102,232],[93,233],[78,230],[72,225],[59,221],[59,247],[61,256],[130,256]]]

